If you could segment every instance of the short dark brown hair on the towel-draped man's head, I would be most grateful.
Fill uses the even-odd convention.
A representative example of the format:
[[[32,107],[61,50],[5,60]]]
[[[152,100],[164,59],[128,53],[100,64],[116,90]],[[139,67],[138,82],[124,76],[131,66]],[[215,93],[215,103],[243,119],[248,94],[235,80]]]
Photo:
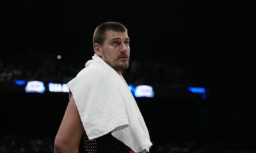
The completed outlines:
[[[118,32],[125,32],[127,31],[127,28],[121,24],[120,22],[104,22],[100,25],[98,25],[93,33],[93,40],[92,43],[99,43],[99,45],[102,45],[105,40],[105,34],[106,31],[118,31]]]

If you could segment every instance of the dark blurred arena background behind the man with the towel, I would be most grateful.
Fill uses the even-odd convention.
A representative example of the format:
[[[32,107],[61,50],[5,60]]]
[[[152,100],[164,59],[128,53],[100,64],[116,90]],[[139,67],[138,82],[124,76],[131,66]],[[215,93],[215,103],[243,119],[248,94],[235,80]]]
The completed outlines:
[[[1,4],[0,152],[53,152],[68,104],[61,90],[109,20],[129,32],[127,83],[154,91],[136,97],[150,152],[256,152],[255,14],[246,1]],[[44,92],[28,92],[39,86],[30,81]]]

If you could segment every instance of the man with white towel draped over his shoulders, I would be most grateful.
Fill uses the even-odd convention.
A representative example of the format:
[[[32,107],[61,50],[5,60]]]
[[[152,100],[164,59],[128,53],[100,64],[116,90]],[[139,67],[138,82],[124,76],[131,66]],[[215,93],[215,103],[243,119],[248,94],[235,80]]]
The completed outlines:
[[[67,84],[70,101],[54,141],[55,153],[79,152],[83,134],[94,144],[88,152],[149,152],[147,126],[122,77],[129,67],[129,41],[119,22],[95,29],[92,60]]]

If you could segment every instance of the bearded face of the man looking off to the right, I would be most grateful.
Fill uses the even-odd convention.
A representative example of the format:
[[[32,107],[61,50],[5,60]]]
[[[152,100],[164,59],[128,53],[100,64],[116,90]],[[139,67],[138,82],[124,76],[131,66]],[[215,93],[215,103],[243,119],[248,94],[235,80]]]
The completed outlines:
[[[100,47],[102,59],[118,73],[129,67],[130,46],[127,31],[107,31],[106,39]]]

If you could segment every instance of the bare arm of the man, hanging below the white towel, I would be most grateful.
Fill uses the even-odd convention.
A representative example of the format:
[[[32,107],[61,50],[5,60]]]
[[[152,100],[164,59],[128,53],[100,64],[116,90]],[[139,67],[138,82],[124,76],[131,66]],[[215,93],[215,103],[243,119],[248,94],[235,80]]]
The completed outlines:
[[[79,143],[84,128],[71,93],[69,99],[67,110],[54,141],[54,153],[79,152]]]

